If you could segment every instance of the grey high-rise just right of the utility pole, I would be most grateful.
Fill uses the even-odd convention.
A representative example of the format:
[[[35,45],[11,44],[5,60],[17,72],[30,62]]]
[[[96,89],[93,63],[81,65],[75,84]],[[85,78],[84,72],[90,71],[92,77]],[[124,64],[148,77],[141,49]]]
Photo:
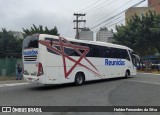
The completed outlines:
[[[79,32],[79,39],[80,40],[89,40],[89,41],[93,41],[93,31],[90,31],[89,28],[83,28],[80,32]]]

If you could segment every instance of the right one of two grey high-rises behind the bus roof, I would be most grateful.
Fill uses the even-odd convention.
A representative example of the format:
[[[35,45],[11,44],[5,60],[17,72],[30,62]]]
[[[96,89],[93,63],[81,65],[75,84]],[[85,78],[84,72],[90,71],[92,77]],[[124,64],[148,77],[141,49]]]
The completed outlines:
[[[96,41],[112,43],[113,41],[113,30],[108,31],[108,29],[100,28],[96,33]]]

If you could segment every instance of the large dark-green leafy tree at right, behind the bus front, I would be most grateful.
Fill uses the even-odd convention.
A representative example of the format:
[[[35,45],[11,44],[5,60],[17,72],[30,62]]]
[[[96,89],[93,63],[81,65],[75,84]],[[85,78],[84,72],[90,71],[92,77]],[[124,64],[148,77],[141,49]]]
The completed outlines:
[[[126,45],[140,56],[160,52],[160,15],[149,11],[139,17],[135,14],[126,26],[116,26],[115,43]]]

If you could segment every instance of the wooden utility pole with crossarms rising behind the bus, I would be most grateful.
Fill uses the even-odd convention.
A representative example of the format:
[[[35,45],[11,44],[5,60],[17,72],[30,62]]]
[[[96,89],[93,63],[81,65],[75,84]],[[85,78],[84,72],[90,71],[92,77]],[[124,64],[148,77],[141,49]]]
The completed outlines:
[[[82,28],[78,27],[78,23],[86,22],[86,20],[78,20],[78,18],[80,16],[85,16],[86,14],[74,13],[73,15],[76,16],[76,20],[73,20],[73,22],[76,22],[76,27],[74,27],[73,29],[76,29],[76,39],[79,39],[79,29],[82,29]]]

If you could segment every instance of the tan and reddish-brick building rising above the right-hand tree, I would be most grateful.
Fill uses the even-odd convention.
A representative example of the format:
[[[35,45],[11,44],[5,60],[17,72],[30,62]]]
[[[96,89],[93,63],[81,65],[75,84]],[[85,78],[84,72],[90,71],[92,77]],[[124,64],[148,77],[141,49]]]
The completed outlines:
[[[160,13],[160,0],[148,0],[148,7],[131,7],[125,12],[126,22],[132,16],[137,14],[139,17],[146,15],[149,11]]]

